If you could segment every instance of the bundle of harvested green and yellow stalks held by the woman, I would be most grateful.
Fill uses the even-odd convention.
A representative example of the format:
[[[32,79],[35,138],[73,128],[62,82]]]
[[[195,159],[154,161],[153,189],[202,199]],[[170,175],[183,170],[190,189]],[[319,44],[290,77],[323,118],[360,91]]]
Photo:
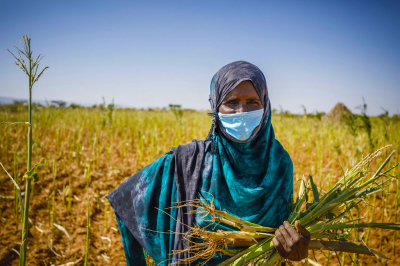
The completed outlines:
[[[318,190],[311,176],[308,180],[303,178],[299,195],[290,206],[291,214],[288,222],[294,227],[294,222],[298,220],[311,233],[309,249],[367,254],[389,259],[366,245],[356,243],[352,230],[356,230],[357,234],[359,228],[400,230],[400,223],[355,223],[351,213],[353,208],[361,206],[370,195],[384,191],[389,181],[397,176],[390,175],[389,172],[397,167],[398,163],[383,171],[394,151],[370,175],[372,173],[368,170],[370,162],[381,155],[385,148],[387,147],[368,155],[344,173],[341,180],[326,193],[322,194]],[[309,192],[312,192],[312,202],[308,202]],[[197,217],[211,220],[212,223],[207,226],[208,228],[200,228],[197,225],[190,227],[184,237],[189,243],[187,248],[173,251],[174,254],[186,251],[192,254],[190,259],[181,262],[201,259],[199,264],[206,265],[218,253],[231,256],[219,266],[277,265],[282,260],[272,243],[275,228],[250,223],[225,211],[217,210],[212,200],[203,197],[181,203],[174,208],[184,206],[195,207]],[[213,232],[210,226],[220,223],[236,227],[238,231]]]

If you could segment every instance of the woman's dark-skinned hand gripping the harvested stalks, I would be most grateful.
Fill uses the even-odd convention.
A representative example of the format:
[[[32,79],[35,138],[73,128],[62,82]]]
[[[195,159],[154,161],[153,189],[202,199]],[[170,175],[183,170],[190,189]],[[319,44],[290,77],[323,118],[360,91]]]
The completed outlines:
[[[295,226],[300,234],[287,221],[283,222],[275,231],[272,243],[283,258],[300,261],[308,257],[311,234],[298,221],[295,222]]]

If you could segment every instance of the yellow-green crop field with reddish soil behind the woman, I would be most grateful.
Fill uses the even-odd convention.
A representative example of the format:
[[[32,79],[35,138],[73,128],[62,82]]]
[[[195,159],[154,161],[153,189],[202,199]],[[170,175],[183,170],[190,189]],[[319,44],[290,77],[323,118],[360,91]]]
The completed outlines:
[[[39,181],[32,183],[28,265],[83,265],[87,230],[89,265],[126,265],[118,226],[105,196],[171,147],[204,139],[211,125],[206,111],[114,109],[112,105],[34,105],[32,119],[32,165],[43,161],[37,170]],[[28,121],[28,109],[23,104],[0,106],[1,121],[7,123],[0,124],[0,162],[24,191],[28,126],[13,122]],[[312,175],[318,187],[327,190],[363,155],[392,145],[373,162],[371,169],[376,169],[392,150],[399,151],[398,117],[371,117],[368,121],[369,129],[362,117],[352,123],[332,124],[315,115],[274,113],[276,139],[293,160],[295,193],[303,175]],[[391,160],[397,162],[399,152]],[[0,170],[0,265],[19,265],[17,194],[10,178]],[[394,170],[392,174],[397,173]],[[399,187],[399,181],[393,179],[385,193],[371,196],[362,208],[354,209],[356,222],[398,222]],[[354,237],[392,259],[360,255],[359,265],[400,265],[400,233],[360,229]],[[315,260],[311,252],[309,257]],[[317,251],[315,257],[322,265],[339,265],[338,258],[341,265],[353,263],[351,254]]]

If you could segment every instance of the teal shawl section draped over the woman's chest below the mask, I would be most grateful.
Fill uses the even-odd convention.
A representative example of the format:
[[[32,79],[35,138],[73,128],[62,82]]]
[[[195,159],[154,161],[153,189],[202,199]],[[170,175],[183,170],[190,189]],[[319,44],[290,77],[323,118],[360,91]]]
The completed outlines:
[[[289,154],[275,139],[271,115],[256,138],[247,143],[213,135],[217,154],[212,167],[204,168],[201,191],[217,209],[256,224],[278,227],[288,218],[293,193],[293,165]],[[204,220],[198,220],[207,226]],[[216,229],[230,228],[218,225]],[[232,228],[231,228],[232,229]]]

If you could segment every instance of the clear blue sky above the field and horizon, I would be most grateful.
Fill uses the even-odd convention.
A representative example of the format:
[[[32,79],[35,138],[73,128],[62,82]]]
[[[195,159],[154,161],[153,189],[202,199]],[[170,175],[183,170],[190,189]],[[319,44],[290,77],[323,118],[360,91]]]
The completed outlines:
[[[207,109],[219,68],[264,72],[273,108],[400,112],[399,1],[0,1],[0,96],[26,98],[6,50],[22,34],[50,69],[34,99]]]

